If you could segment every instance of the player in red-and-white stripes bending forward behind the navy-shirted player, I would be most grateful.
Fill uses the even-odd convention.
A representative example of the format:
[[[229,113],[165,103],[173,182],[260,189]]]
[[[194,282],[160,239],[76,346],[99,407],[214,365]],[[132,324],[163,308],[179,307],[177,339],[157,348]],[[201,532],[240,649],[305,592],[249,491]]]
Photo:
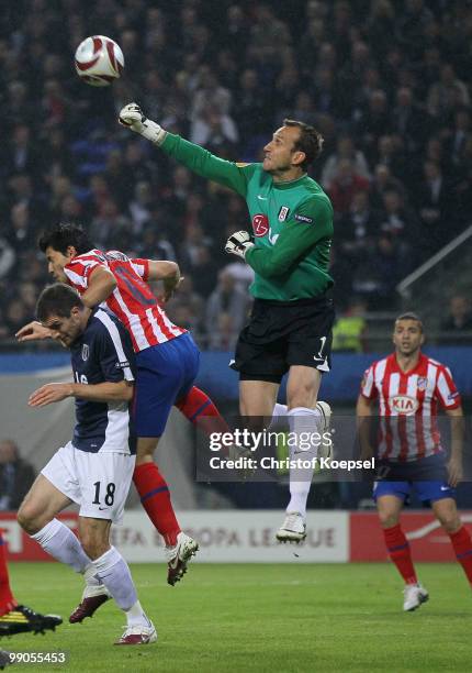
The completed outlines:
[[[173,585],[187,571],[198,543],[180,530],[167,483],[154,462],[154,451],[172,405],[207,431],[227,430],[212,400],[193,385],[199,368],[196,345],[187,330],[169,320],[148,286],[148,282],[162,280],[167,300],[179,285],[179,267],[173,262],[131,260],[120,251],[102,252],[81,228],[71,224],[58,224],[46,232],[40,247],[56,280],[75,287],[87,307],[105,302],[131,334],[137,363],[138,435],[133,481],[144,508],[166,541],[168,582]],[[16,334],[20,341],[48,335],[37,322]]]

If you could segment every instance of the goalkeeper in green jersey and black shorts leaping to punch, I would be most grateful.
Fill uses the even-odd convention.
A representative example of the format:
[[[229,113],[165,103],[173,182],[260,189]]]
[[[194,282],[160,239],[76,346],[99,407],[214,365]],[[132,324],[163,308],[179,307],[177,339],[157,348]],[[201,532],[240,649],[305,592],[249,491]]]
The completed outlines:
[[[263,147],[263,162],[224,161],[147,119],[136,103],[125,106],[120,122],[200,176],[229,187],[246,199],[254,243],[246,231],[229,236],[225,250],[255,271],[249,323],[236,346],[243,416],[271,417],[281,410],[277,395],[288,372],[286,401],[292,431],[325,430],[328,405],[317,405],[322,373],[329,372],[333,300],[329,249],[333,207],[306,174],[322,151],[323,137],[303,122],[284,120]],[[294,453],[301,453],[294,449]],[[303,450],[316,455],[316,448]],[[278,531],[281,541],[305,537],[306,499],[312,473],[291,472],[291,500]]]

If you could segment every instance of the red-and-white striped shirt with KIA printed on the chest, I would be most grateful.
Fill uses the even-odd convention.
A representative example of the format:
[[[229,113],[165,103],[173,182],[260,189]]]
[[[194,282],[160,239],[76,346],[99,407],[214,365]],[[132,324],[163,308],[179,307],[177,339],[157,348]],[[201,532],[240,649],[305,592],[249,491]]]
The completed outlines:
[[[360,391],[367,399],[379,399],[378,455],[392,461],[416,461],[441,451],[438,405],[461,405],[448,367],[423,353],[408,372],[400,368],[395,354],[374,362]]]

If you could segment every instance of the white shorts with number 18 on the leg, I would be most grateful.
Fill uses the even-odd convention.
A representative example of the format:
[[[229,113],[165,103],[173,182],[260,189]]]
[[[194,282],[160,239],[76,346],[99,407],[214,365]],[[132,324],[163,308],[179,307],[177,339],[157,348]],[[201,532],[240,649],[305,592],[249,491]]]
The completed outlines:
[[[89,453],[69,442],[41,471],[60,493],[80,505],[79,516],[121,523],[136,456]]]

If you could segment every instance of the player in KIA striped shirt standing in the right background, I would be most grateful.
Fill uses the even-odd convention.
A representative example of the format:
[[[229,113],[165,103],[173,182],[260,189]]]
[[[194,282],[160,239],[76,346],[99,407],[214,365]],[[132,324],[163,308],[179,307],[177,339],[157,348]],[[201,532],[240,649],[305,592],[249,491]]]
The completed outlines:
[[[374,455],[370,417],[373,406],[379,405],[379,481],[373,496],[390,558],[405,581],[404,610],[415,610],[429,597],[418,582],[400,525],[403,505],[412,490],[430,504],[472,584],[472,541],[460,520],[454,489],[462,476],[461,398],[448,367],[422,353],[424,341],[418,316],[400,316],[393,331],[395,352],[369,367],[357,402],[364,457]],[[437,426],[439,407],[451,420],[449,461]]]

